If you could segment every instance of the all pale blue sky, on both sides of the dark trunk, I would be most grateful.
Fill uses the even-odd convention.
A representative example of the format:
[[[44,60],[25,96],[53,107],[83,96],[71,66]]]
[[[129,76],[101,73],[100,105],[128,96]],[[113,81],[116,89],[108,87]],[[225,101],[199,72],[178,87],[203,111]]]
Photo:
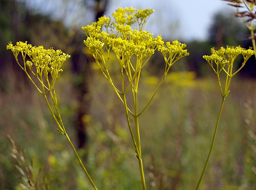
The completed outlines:
[[[50,13],[57,19],[65,17],[64,20],[67,25],[76,23],[77,27],[81,28],[92,22],[90,6],[94,2],[93,0],[23,1],[28,6],[37,7],[41,12]],[[86,1],[89,7],[86,11],[82,10],[81,2],[83,1]],[[67,4],[60,6],[60,2],[62,5],[63,2]],[[231,14],[232,11],[235,12],[235,8],[228,6],[225,1],[221,0],[109,0],[105,14],[111,16],[115,9],[125,6],[136,9],[154,9],[155,12],[150,16],[145,30],[153,33],[154,36],[161,34],[163,38],[168,40],[183,41],[206,40],[208,28],[215,13],[221,11]]]

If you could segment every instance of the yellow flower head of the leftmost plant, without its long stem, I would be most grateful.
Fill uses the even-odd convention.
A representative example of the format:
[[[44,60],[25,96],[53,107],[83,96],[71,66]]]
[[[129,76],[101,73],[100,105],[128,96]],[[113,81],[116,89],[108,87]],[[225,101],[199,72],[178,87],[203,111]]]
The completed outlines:
[[[44,49],[43,46],[32,46],[31,44],[28,44],[27,41],[25,43],[17,42],[15,46],[10,42],[6,49],[12,51],[16,62],[22,70],[29,76],[27,72],[28,67],[32,74],[37,77],[47,90],[52,90],[52,88],[55,87],[55,84],[63,71],[61,66],[64,61],[70,57],[70,55],[63,53],[61,50],[55,51],[52,48]],[[24,66],[21,66],[19,62],[19,54],[22,56]],[[33,67],[35,67],[35,69]],[[49,73],[51,75],[51,82],[49,82],[48,78]],[[32,81],[30,76],[29,78]],[[43,78],[46,79],[47,84],[44,84]],[[37,89],[39,90],[39,88]],[[42,91],[40,92],[43,93]]]

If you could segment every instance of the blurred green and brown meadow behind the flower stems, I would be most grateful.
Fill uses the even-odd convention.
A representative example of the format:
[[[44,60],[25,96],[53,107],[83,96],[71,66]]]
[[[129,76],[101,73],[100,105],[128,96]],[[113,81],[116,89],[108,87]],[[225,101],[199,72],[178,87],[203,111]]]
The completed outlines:
[[[207,64],[207,63],[205,63]],[[68,70],[68,67],[65,68]],[[114,72],[115,73],[115,72]],[[4,73],[0,91],[0,190],[21,189],[19,172],[10,156],[10,134],[26,149],[35,174],[42,169],[50,189],[92,189],[68,141],[56,130],[47,105],[24,73]],[[118,78],[117,78],[118,79]],[[70,138],[76,142],[76,89],[73,75],[64,70],[57,86],[59,107]],[[99,70],[89,77],[89,115],[84,115],[89,140],[78,152],[98,189],[141,189],[140,172],[124,108]],[[143,73],[140,108],[147,103],[159,76]],[[256,103],[255,80],[232,79],[221,115],[215,146],[199,189],[253,190],[256,155],[246,127],[248,101]],[[197,79],[193,73],[171,72],[139,118],[144,170],[148,189],[195,189],[204,167],[221,103],[214,75]],[[256,131],[256,129],[254,129]],[[255,144],[254,144],[255,145]],[[256,146],[254,146],[256,147]],[[256,165],[256,164],[255,164]],[[254,165],[254,166],[255,166]]]

